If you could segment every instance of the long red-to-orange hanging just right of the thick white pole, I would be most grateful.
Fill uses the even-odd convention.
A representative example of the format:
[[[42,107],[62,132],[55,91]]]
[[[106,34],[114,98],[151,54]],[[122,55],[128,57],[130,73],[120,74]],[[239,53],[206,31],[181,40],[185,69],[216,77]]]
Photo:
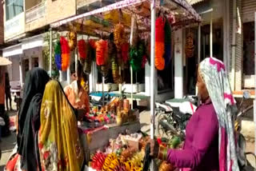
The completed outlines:
[[[164,70],[165,68],[165,58],[163,55],[165,53],[165,26],[166,19],[158,17],[155,21],[155,58],[154,65],[158,70]]]

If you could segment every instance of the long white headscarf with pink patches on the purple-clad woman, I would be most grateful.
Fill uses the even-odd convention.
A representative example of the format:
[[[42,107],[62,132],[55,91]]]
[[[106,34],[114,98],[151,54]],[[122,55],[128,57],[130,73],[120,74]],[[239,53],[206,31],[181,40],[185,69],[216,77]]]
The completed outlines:
[[[199,65],[199,74],[210,95],[219,123],[219,170],[238,171],[234,137],[236,105],[223,62],[206,58]]]

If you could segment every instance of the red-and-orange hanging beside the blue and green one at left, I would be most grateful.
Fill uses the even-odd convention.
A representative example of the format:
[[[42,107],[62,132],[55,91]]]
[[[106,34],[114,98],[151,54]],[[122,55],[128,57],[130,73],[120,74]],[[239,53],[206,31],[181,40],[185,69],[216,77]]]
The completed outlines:
[[[60,38],[60,44],[62,48],[62,59],[60,60],[62,62],[61,70],[65,71],[70,66],[70,46],[64,37]]]

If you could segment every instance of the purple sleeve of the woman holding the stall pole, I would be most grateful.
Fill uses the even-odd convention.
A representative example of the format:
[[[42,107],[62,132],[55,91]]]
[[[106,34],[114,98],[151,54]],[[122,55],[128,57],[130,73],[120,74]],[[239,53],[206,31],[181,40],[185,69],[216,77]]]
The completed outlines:
[[[202,110],[201,110],[202,111]],[[198,111],[197,111],[198,112]],[[194,113],[190,124],[195,125],[193,141],[190,142],[191,149],[169,149],[167,161],[178,168],[195,169],[202,161],[202,158],[210,148],[212,141],[218,133],[218,118],[214,111],[207,113]],[[192,118],[191,117],[191,118]],[[190,129],[186,130],[188,133]]]

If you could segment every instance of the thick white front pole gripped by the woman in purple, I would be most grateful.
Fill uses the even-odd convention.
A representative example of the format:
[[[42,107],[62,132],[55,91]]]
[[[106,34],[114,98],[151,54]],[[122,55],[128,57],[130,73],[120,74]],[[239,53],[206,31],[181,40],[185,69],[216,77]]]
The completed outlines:
[[[154,46],[155,46],[155,0],[151,1],[151,40],[150,40],[150,138],[154,139]],[[151,162],[150,170],[154,171],[154,162]]]

